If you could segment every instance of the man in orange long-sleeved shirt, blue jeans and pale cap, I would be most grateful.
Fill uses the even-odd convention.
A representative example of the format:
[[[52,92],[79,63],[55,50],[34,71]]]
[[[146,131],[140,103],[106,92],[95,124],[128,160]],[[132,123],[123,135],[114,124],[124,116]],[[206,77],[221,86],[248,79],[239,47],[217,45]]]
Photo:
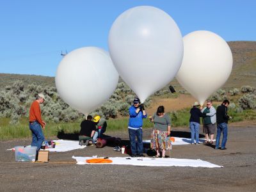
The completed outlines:
[[[29,110],[29,129],[32,132],[31,146],[37,147],[40,150],[42,143],[44,142],[44,133],[42,129],[45,129],[45,122],[41,118],[40,104],[45,100],[42,93],[36,95],[36,100],[31,104]],[[41,129],[42,126],[42,129]]]

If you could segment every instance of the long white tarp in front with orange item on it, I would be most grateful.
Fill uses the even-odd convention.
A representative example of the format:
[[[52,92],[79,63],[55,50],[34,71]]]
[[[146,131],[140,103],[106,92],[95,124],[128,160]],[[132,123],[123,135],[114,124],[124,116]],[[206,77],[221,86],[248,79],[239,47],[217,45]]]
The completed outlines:
[[[205,168],[221,168],[217,164],[212,164],[200,159],[175,159],[175,158],[152,158],[152,157],[109,157],[112,163],[86,163],[87,159],[92,157],[76,157],[77,164],[125,164],[136,166],[191,166],[191,167],[205,167]],[[130,158],[130,159],[127,159]],[[142,159],[142,160],[141,160]]]

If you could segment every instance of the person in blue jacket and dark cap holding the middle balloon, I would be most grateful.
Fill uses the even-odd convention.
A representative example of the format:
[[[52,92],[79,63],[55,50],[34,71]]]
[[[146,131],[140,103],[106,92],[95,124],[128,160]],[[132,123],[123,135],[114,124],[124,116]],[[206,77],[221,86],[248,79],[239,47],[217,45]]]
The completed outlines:
[[[132,157],[143,157],[143,143],[142,143],[142,125],[143,118],[147,118],[144,105],[140,104],[140,99],[133,100],[133,105],[129,108],[129,138],[131,144]],[[138,141],[138,147],[136,147],[136,137]]]

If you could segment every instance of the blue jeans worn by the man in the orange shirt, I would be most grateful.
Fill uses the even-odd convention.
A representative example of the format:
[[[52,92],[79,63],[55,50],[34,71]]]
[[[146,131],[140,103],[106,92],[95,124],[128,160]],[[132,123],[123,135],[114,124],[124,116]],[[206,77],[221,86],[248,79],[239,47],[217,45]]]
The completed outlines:
[[[38,122],[29,123],[29,129],[32,132],[32,143],[31,146],[37,147],[40,150],[42,143],[44,142],[44,133],[41,125]]]

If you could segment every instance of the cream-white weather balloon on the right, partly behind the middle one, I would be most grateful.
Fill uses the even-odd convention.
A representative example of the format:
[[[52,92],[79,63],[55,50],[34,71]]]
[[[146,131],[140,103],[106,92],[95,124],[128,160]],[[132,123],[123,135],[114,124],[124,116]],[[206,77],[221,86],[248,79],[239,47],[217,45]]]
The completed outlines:
[[[189,33],[183,43],[183,61],[176,77],[202,105],[230,76],[232,52],[227,42],[211,31]]]

